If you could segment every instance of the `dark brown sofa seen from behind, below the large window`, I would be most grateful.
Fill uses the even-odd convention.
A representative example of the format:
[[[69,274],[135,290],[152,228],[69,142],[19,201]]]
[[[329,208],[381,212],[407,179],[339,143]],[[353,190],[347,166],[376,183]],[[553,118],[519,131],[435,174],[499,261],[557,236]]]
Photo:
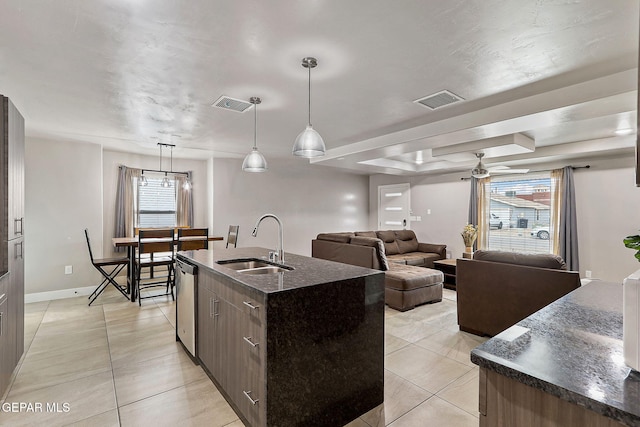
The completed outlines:
[[[456,264],[458,325],[475,335],[497,335],[580,287],[556,255],[477,251]]]

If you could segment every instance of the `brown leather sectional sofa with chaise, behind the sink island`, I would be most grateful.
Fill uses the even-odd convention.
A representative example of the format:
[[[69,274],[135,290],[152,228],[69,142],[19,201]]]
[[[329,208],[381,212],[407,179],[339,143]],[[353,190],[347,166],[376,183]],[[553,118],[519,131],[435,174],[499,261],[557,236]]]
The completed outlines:
[[[446,245],[419,243],[411,230],[322,233],[311,242],[315,258],[383,270],[385,303],[400,311],[442,301],[442,272],[428,267],[445,254]]]

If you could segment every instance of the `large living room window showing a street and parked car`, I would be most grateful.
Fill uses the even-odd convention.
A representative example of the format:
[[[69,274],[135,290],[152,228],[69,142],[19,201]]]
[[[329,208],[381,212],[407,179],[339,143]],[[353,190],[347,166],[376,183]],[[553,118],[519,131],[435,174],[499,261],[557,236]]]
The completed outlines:
[[[552,191],[548,172],[491,177],[484,191],[487,249],[551,253]]]

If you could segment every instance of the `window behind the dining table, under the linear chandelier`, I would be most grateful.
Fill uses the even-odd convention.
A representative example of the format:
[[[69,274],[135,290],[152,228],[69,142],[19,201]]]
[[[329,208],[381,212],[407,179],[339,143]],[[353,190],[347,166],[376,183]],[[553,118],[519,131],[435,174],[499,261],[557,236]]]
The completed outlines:
[[[170,178],[169,187],[162,186],[162,178],[145,175],[147,185],[138,180],[138,209],[136,227],[161,228],[176,226],[176,183]]]

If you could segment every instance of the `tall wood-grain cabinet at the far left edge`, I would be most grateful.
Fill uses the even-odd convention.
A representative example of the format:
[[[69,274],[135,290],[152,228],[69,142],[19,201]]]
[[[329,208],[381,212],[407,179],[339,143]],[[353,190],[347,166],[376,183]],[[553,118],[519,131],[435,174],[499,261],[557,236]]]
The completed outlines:
[[[0,396],[24,352],[24,118],[0,95]]]

